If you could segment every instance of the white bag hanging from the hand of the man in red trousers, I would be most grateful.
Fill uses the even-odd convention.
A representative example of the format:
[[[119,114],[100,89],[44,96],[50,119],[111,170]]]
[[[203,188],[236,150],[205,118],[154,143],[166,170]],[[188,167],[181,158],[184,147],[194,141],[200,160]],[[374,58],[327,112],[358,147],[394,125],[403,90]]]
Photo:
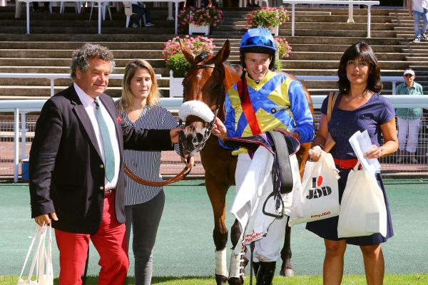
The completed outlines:
[[[46,243],[46,232],[49,232]],[[31,251],[36,242],[36,250],[33,253],[33,260],[31,261],[29,274],[26,279],[22,279],[22,274],[29,260]],[[36,275],[34,278],[34,269]],[[53,285],[54,284],[54,268],[52,266],[52,229],[50,226],[43,224],[39,225],[33,234],[29,251],[26,254],[24,266],[22,266],[21,274],[19,275],[18,285]]]

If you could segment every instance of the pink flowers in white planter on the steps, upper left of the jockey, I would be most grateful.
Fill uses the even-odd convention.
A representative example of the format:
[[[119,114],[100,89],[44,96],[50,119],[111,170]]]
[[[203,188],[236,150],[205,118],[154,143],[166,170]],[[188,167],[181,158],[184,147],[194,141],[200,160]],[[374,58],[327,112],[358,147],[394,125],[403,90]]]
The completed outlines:
[[[184,30],[185,26],[189,26],[189,34],[204,33],[208,36],[210,26],[218,26],[223,21],[223,11],[212,6],[207,8],[195,8],[190,6],[180,11],[178,14],[178,23],[180,23],[180,31]]]

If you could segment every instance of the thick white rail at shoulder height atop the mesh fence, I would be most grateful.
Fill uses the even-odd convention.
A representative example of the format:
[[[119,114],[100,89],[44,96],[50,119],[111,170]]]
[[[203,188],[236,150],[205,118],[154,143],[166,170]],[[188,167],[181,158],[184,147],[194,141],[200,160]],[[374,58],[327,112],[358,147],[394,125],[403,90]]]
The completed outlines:
[[[428,96],[421,95],[385,95],[394,108],[428,108]],[[314,95],[314,108],[319,109],[325,95]],[[14,113],[14,182],[18,182],[19,159],[26,158],[26,113],[41,110],[46,100],[0,100],[0,113]],[[161,105],[168,110],[178,110],[183,98],[161,98]],[[21,120],[20,116],[21,115]],[[0,122],[1,123],[1,122]],[[21,125],[21,129],[19,129]],[[21,157],[19,157],[19,133],[21,133]]]

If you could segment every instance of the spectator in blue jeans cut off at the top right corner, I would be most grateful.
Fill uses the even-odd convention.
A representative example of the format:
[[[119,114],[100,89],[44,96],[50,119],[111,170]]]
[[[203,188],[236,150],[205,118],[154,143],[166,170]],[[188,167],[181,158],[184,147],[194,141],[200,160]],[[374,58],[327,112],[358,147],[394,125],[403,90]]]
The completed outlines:
[[[414,20],[414,43],[420,43],[421,38],[428,41],[428,35],[425,33],[428,27],[428,0],[407,0],[409,15]],[[420,17],[422,17],[422,29],[419,27]]]

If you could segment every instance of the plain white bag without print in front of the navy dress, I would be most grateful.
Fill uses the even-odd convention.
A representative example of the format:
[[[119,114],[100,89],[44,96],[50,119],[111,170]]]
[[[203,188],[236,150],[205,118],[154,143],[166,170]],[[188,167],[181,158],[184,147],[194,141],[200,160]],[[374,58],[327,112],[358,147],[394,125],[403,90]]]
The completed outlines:
[[[360,163],[350,171],[340,203],[337,237],[387,236],[387,207],[376,178]]]

